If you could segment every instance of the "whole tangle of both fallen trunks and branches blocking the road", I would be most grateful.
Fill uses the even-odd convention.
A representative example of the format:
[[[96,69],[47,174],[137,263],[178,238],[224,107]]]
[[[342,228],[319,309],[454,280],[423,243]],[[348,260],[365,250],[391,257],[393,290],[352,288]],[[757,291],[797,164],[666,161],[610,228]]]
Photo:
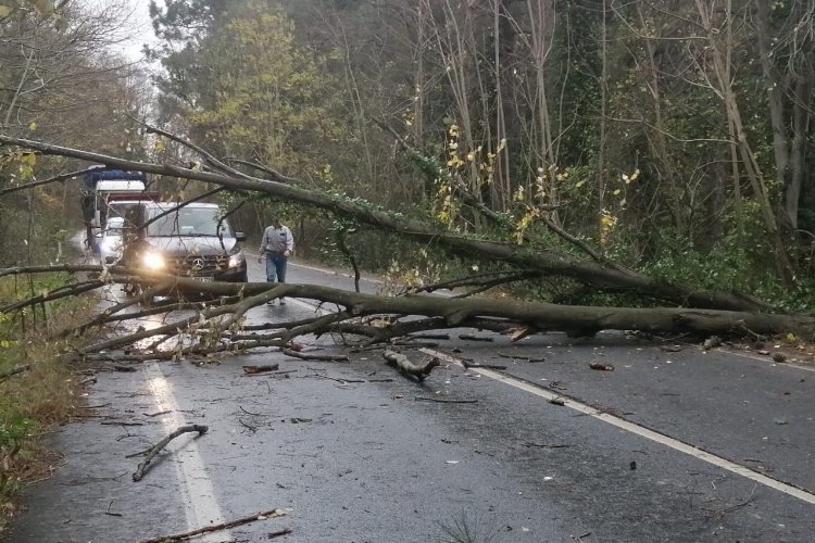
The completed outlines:
[[[165,132],[161,134],[172,137]],[[5,135],[0,135],[0,144],[20,146],[43,154],[102,163],[111,167],[196,179],[238,192],[261,192],[304,206],[327,210],[356,224],[397,232],[415,241],[436,243],[469,258],[500,261],[509,268],[509,272],[500,277],[468,277],[424,287],[423,290],[428,292],[442,287],[467,288],[467,294],[472,294],[506,281],[555,276],[576,280],[599,291],[636,292],[641,296],[675,305],[653,308],[574,306],[473,296],[440,298],[417,292],[399,296],[378,296],[314,285],[201,283],[165,275],[146,275],[141,270],[120,266],[61,265],[0,270],[0,277],[54,270],[90,276],[52,292],[1,305],[0,313],[21,311],[29,305],[42,304],[58,298],[90,292],[110,283],[142,286],[143,290],[138,296],[120,301],[79,326],[62,330],[62,337],[102,330],[137,315],[171,312],[162,326],[91,341],[74,353],[79,356],[93,356],[108,350],[123,348],[128,349],[128,356],[138,359],[208,355],[256,348],[288,349],[298,337],[326,333],[336,333],[346,339],[356,338],[356,343],[376,344],[429,330],[462,327],[505,333],[513,341],[539,332],[564,331],[570,336],[591,336],[601,330],[753,337],[794,332],[802,337],[815,337],[815,317],[772,313],[767,304],[744,293],[702,292],[688,286],[648,277],[598,257],[590,248],[566,232],[561,231],[559,235],[562,239],[573,242],[588,255],[587,258],[581,260],[572,254],[536,247],[534,243],[518,245],[513,242],[459,235],[342,195],[300,188],[296,179],[277,174],[273,169],[263,171],[268,176],[267,179],[253,177],[235,171],[187,142],[185,144],[201,153],[209,171],[128,161]],[[556,228],[554,225],[552,227]],[[201,291],[217,296],[218,302],[205,304],[184,301],[185,293]],[[150,303],[154,296],[171,292],[180,295],[180,301]],[[249,310],[281,296],[310,300],[317,306],[330,304],[336,311],[296,321],[246,326],[246,314]],[[136,305],[140,305],[140,308],[134,312]],[[172,311],[180,308],[192,313],[174,320],[170,316]],[[150,338],[153,339],[152,343],[143,345],[143,340]],[[138,351],[133,349],[137,342],[141,342]]]

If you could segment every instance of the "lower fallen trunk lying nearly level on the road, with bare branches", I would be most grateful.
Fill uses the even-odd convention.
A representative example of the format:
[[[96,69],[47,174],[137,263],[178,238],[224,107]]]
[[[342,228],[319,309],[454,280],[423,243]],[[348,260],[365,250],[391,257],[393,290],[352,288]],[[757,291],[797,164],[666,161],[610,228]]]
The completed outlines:
[[[84,267],[84,269],[86,269]],[[21,268],[18,273],[24,273]],[[100,274],[102,268],[99,268]],[[170,300],[154,307],[128,313],[143,299],[130,299],[91,316],[86,323],[59,332],[102,331],[109,325],[134,315],[166,313],[165,323],[152,329],[137,329],[105,337],[71,353],[71,357],[93,357],[112,350],[127,350],[129,356],[170,359],[214,353],[246,352],[259,348],[289,349],[297,338],[337,334],[355,346],[387,345],[397,338],[429,330],[472,328],[490,330],[517,341],[534,333],[564,331],[570,336],[591,336],[601,330],[638,330],[651,334],[710,334],[760,337],[793,332],[815,338],[815,317],[769,313],[731,312],[677,307],[632,308],[557,305],[544,302],[493,300],[488,298],[444,298],[426,294],[383,296],[298,283],[201,283],[166,275],[138,275],[136,270],[112,267],[108,283],[138,279],[146,295],[172,289],[176,293],[204,292],[210,301]],[[77,283],[83,289],[85,282]],[[246,314],[277,298],[310,301],[313,317],[261,325],[246,325]],[[40,296],[16,302],[35,304]],[[184,310],[174,318],[175,310]],[[153,338],[153,343],[143,341]],[[139,349],[134,345],[141,344]]]

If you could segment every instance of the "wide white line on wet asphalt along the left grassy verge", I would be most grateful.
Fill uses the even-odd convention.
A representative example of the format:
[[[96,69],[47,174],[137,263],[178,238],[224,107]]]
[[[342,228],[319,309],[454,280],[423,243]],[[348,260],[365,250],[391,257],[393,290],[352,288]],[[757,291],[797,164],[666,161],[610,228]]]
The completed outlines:
[[[166,432],[171,433],[188,424],[184,420],[175,401],[173,386],[164,378],[160,365],[148,364],[147,372],[148,386],[153,394],[155,406],[160,412],[170,412],[161,417]],[[193,434],[179,435],[165,447],[172,451],[173,458],[170,464],[176,467],[178,488],[180,489],[181,501],[185,503],[188,531],[224,522],[221,506],[215,497],[215,488],[198,451],[198,443],[189,435]],[[166,465],[162,466],[162,468],[166,467]],[[228,530],[220,530],[217,534],[202,535],[196,541],[215,543],[230,541],[231,539]]]

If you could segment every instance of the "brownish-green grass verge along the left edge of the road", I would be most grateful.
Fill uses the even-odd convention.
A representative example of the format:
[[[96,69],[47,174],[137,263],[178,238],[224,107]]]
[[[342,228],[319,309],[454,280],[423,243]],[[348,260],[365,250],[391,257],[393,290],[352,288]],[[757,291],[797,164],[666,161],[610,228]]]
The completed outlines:
[[[48,290],[64,279],[37,278],[25,291]],[[0,300],[25,298],[18,288],[15,279],[0,279]],[[90,296],[70,298],[48,307],[0,313],[0,540],[20,509],[20,491],[49,477],[60,460],[43,446],[45,435],[83,411],[79,379],[72,372],[76,368],[60,359],[70,343],[47,338],[77,323],[93,303]]]

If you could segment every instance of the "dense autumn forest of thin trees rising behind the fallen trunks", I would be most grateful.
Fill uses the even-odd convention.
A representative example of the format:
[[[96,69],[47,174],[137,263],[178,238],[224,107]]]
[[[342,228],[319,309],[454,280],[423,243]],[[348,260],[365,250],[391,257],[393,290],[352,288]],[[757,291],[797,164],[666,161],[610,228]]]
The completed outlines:
[[[0,11],[7,136],[200,169],[191,142],[447,232],[812,308],[812,2],[166,0],[152,73],[104,52],[137,38],[105,4]],[[5,146],[0,166],[5,264],[54,254],[77,189],[43,180],[87,162]],[[279,197],[224,199],[251,204],[248,231],[281,212],[312,257],[343,249],[416,283],[505,272]],[[516,289],[611,303],[572,279]]]

